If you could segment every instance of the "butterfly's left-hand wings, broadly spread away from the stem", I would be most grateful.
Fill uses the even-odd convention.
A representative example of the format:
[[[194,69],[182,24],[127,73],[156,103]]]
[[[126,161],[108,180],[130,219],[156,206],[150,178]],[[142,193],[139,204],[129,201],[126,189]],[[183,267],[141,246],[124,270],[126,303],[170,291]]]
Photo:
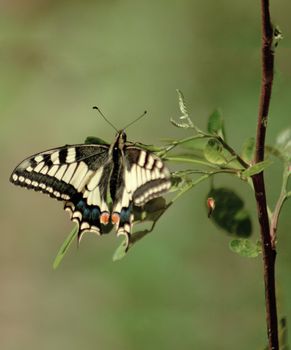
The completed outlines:
[[[102,233],[107,224],[108,181],[112,171],[108,145],[72,145],[35,154],[22,161],[10,181],[65,201],[65,209],[85,231]]]

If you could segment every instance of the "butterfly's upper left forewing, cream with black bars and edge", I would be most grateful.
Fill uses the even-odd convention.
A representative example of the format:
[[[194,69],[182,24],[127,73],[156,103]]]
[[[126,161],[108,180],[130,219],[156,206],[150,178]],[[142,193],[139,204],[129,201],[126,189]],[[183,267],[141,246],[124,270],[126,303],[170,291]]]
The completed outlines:
[[[108,158],[108,147],[73,145],[35,154],[21,162],[10,181],[16,185],[68,200],[82,192]]]

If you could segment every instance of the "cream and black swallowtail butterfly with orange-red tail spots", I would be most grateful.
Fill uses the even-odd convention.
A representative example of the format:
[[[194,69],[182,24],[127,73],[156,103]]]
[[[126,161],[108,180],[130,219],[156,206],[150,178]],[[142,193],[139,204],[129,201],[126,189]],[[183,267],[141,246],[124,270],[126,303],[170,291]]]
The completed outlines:
[[[66,145],[28,157],[14,169],[10,181],[64,201],[78,224],[78,241],[86,231],[101,235],[106,225],[113,224],[117,235],[125,235],[126,248],[133,206],[143,206],[171,186],[162,160],[127,142],[124,130],[111,145]]]

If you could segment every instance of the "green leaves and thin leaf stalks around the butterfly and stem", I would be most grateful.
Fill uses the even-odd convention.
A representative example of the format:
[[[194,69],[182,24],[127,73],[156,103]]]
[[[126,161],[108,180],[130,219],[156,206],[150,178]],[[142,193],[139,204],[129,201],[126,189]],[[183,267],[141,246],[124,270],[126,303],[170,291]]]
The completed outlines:
[[[224,121],[221,112],[215,110],[209,116],[207,132],[204,132],[192,122],[182,92],[177,90],[177,93],[181,115],[179,122],[171,121],[176,127],[188,128],[194,134],[182,139],[167,139],[167,143],[164,146],[137,145],[156,152],[165,161],[188,164],[190,169],[172,173],[172,186],[169,192],[175,192],[176,195],[168,204],[164,198],[157,198],[147,203],[143,208],[134,207],[134,227],[137,227],[137,230],[132,233],[130,248],[135,242],[154,229],[159,218],[174,201],[200,182],[220,173],[226,173],[245,180],[264,171],[272,163],[271,160],[265,160],[253,166],[248,166],[248,163],[251,163],[254,156],[254,138],[246,140],[241,152],[242,158],[240,158],[240,155],[225,141]],[[87,137],[85,143],[107,144],[104,140],[96,137]],[[288,157],[290,157],[291,129],[283,131],[278,136],[275,147],[270,149],[272,150],[271,154],[280,154],[279,159],[287,161]],[[193,168],[193,165],[199,166],[199,169]],[[288,176],[289,173],[286,175],[286,179]],[[287,180],[285,185],[287,185]],[[284,192],[284,200],[289,194],[291,195],[289,192]],[[230,248],[243,256],[257,256],[260,252],[259,245],[255,245],[246,239],[251,235],[252,223],[250,214],[244,207],[243,200],[231,189],[225,187],[211,188],[207,197],[212,197],[215,203],[214,209],[211,211],[211,220],[227,234],[240,238],[232,240]],[[151,227],[139,230],[136,225],[144,222],[151,223]],[[112,225],[107,226],[106,230],[110,231]],[[76,229],[74,229],[63,243],[55,259],[54,268],[63,259],[76,234]],[[126,255],[125,248],[126,246],[122,242],[114,253],[114,261],[120,260]]]

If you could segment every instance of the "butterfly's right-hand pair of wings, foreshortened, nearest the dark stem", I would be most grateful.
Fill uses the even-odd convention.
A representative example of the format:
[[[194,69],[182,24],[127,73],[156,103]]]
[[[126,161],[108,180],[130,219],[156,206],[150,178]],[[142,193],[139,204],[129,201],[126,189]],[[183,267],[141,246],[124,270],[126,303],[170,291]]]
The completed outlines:
[[[171,187],[171,180],[167,167],[151,152],[127,146],[123,158],[123,168],[113,203],[112,222],[117,225],[117,235],[126,236],[128,248],[134,220],[133,206],[143,206],[167,192]]]

